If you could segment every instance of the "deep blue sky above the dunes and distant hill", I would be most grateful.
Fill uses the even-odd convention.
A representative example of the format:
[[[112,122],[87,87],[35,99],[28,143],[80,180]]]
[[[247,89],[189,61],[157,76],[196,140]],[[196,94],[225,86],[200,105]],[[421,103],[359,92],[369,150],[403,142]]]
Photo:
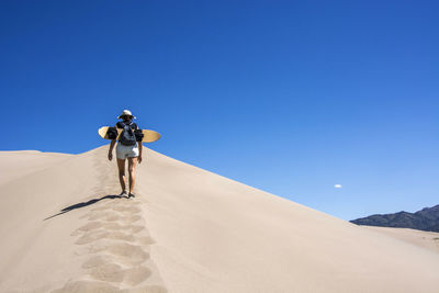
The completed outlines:
[[[438,1],[1,1],[0,149],[82,153],[130,109],[176,159],[414,212],[439,203],[438,32]]]

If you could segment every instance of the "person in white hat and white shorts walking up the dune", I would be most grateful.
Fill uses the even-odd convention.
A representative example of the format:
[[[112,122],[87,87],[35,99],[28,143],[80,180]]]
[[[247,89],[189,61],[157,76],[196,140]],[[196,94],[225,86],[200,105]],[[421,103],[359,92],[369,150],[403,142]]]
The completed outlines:
[[[128,142],[130,136],[134,135],[134,131],[138,129],[137,124],[133,122],[135,116],[131,113],[130,110],[124,110],[122,114],[117,117],[122,119],[122,121],[117,122],[115,127],[123,128],[126,132],[124,137],[123,134],[119,137],[119,143],[116,146],[116,157],[117,157],[117,168],[119,168],[119,181],[121,182],[122,188],[122,196],[126,195],[126,183],[125,183],[125,159],[128,160],[128,172],[130,172],[130,192],[128,198],[135,198],[134,194],[134,184],[135,184],[135,176],[136,176],[136,165],[142,162],[142,142]],[[131,131],[130,131],[131,129]],[[125,137],[128,137],[126,139]],[[113,148],[116,140],[111,140],[110,150],[109,150],[109,160],[113,159]]]

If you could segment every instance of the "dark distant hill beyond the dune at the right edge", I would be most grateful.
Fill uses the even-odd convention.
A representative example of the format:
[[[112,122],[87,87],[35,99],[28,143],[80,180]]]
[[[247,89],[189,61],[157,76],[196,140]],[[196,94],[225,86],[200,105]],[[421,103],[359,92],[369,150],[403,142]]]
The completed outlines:
[[[395,214],[371,215],[350,222],[357,225],[439,232],[439,204],[425,207],[416,213],[403,211]]]

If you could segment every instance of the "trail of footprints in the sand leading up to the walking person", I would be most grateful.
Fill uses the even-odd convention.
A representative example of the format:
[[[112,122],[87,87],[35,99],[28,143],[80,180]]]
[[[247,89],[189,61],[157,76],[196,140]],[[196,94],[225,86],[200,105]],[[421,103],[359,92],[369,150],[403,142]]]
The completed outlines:
[[[103,161],[103,154],[97,155],[100,156],[93,158],[94,168],[101,176],[94,191],[111,194],[120,188],[115,166]],[[82,261],[81,274],[53,292],[167,292],[150,258],[155,240],[147,229],[140,202],[105,199],[87,210],[79,217],[80,223],[86,223],[71,232],[75,255]]]

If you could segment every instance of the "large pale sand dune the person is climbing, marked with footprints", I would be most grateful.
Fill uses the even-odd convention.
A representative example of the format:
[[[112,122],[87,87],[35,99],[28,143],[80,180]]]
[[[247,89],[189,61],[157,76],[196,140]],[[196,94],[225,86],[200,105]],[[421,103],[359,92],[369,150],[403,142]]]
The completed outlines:
[[[437,292],[436,251],[149,149],[117,198],[106,151],[0,155],[0,292]]]

